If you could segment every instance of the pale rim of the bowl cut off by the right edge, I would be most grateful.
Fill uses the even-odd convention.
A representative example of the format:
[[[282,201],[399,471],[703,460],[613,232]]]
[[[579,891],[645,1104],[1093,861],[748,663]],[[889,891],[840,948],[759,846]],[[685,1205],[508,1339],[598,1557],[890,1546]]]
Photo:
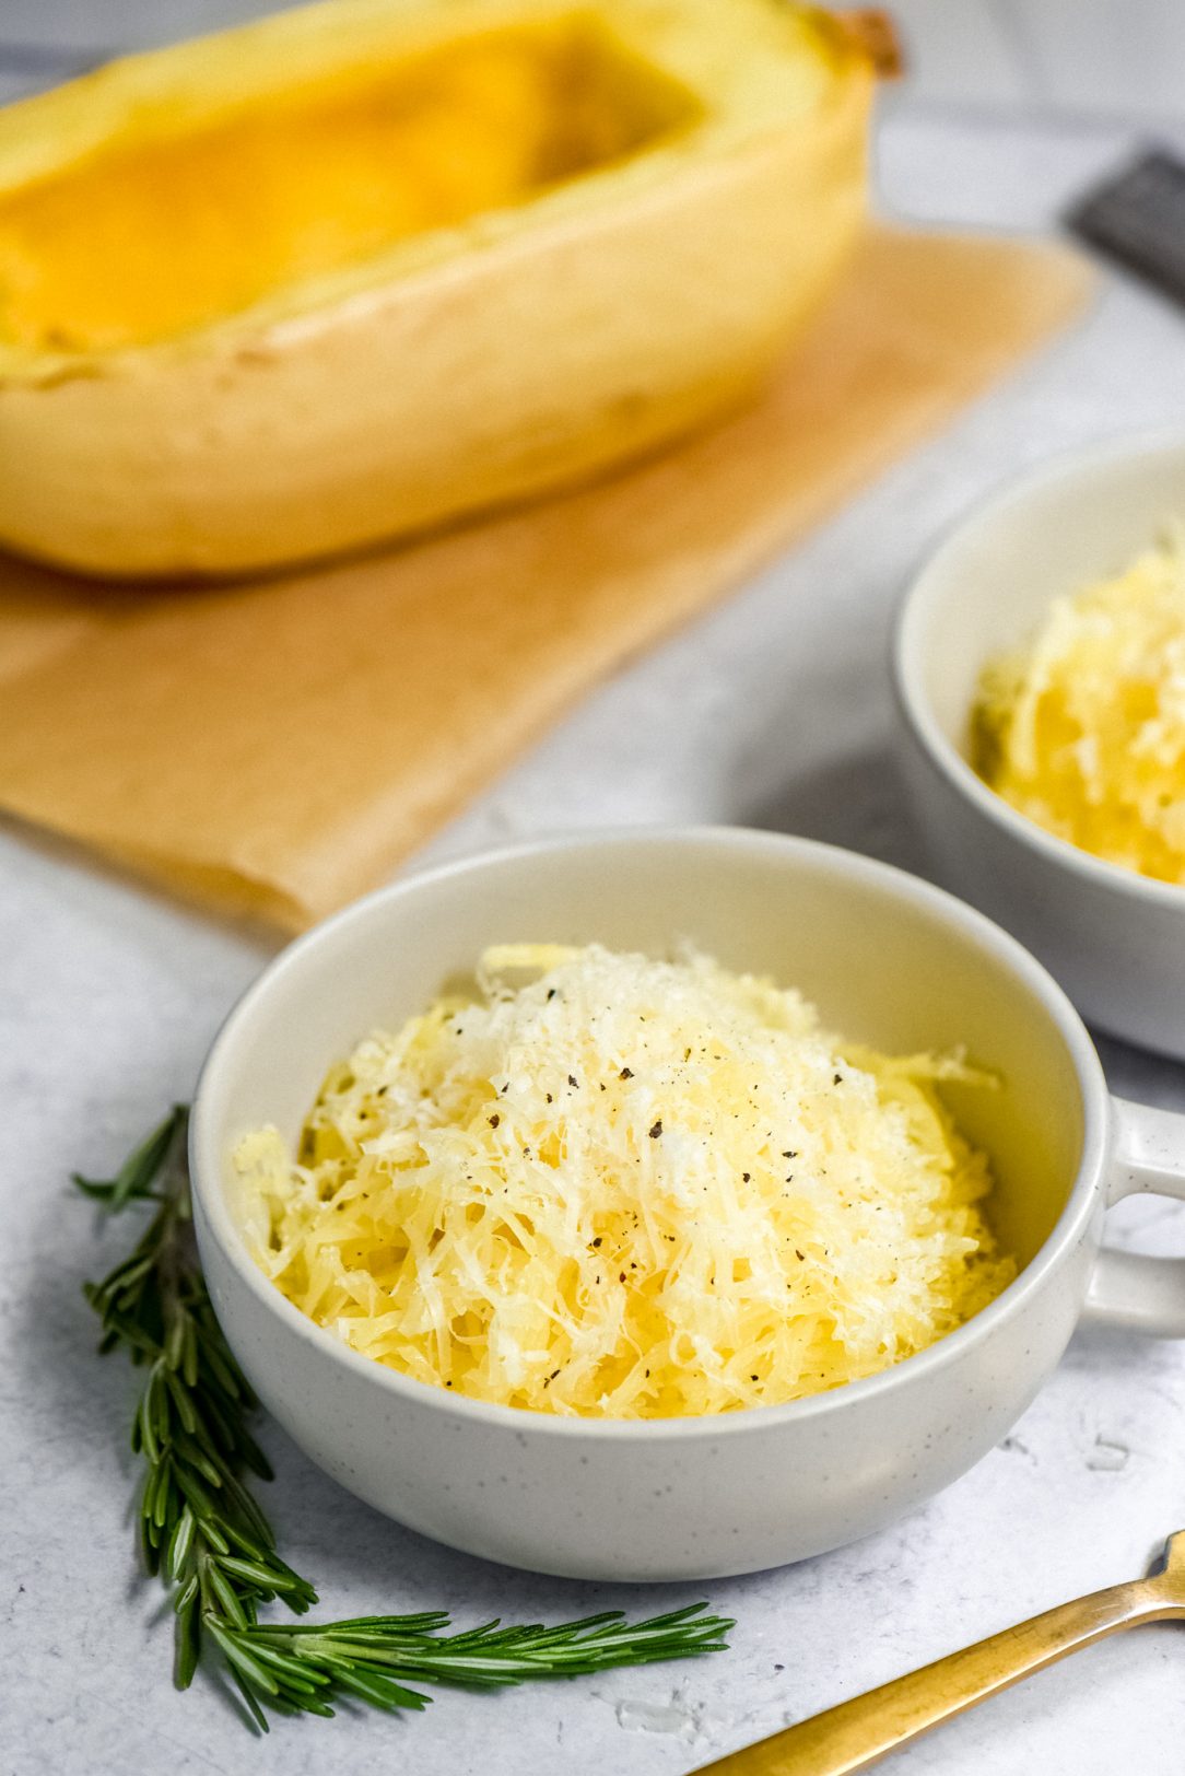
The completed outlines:
[[[1165,883],[1155,876],[1128,870],[1121,863],[1110,863],[1107,858],[1098,858],[1068,838],[1050,833],[1013,808],[1002,796],[997,796],[943,733],[926,693],[922,673],[926,657],[922,625],[943,602],[940,583],[952,554],[975,536],[990,533],[1011,511],[1023,508],[1029,499],[1059,483],[1071,485],[1078,478],[1089,478],[1109,467],[1128,467],[1142,456],[1173,453],[1181,455],[1185,467],[1185,428],[1181,426],[1119,432],[1086,446],[1061,449],[997,483],[990,494],[975,501],[970,511],[965,511],[943,531],[940,542],[927,551],[920,567],[910,575],[894,618],[890,677],[897,710],[929,764],[990,824],[1055,868],[1068,870],[1096,890],[1128,895],[1149,906],[1185,915],[1185,884]]]

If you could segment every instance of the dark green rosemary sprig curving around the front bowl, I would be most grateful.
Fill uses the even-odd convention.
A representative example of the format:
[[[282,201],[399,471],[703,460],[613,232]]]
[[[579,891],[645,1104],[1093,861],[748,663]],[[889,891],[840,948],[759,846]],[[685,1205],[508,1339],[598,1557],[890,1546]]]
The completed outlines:
[[[560,1627],[487,1621],[448,1634],[442,1611],[346,1621],[259,1621],[281,1598],[295,1614],[316,1602],[307,1579],[275,1549],[249,1474],[272,1471],[247,1421],[258,1408],[215,1320],[194,1243],[185,1153],[188,1114],[178,1105],[112,1179],[75,1174],[107,1211],[151,1202],[128,1257],[85,1295],[103,1325],[101,1352],[123,1346],[147,1369],[131,1447],[144,1458],[139,1536],[151,1574],[172,1588],[174,1680],[187,1689],[203,1645],[238,1685],[263,1732],[266,1710],[332,1716],[332,1701],[423,1709],[414,1684],[499,1689],[720,1652],[732,1627],[705,1604],[629,1623],[620,1611]]]

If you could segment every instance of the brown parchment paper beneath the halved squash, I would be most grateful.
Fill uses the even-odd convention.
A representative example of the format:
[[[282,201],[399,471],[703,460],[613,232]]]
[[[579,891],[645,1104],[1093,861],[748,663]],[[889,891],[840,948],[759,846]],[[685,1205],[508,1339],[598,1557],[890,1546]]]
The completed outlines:
[[[613,481],[219,590],[0,558],[0,805],[208,906],[306,925],[934,432],[1087,286],[1061,247],[878,229],[759,405]]]

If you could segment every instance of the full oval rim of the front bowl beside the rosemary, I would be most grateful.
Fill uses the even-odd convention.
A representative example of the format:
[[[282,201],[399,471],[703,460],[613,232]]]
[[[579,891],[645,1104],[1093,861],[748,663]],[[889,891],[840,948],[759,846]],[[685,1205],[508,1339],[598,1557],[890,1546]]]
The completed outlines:
[[[670,1419],[611,1419],[611,1417],[561,1417],[547,1412],[531,1412],[522,1407],[505,1407],[485,1399],[469,1399],[464,1394],[446,1392],[428,1382],[405,1376],[373,1357],[364,1357],[352,1346],[341,1343],[325,1327],[316,1325],[307,1314],[295,1307],[279,1288],[263,1273],[251,1256],[243,1231],[236,1225],[222,1188],[222,1156],[219,1142],[217,1099],[220,1096],[222,1076],[235,1066],[236,1043],[242,1027],[251,1019],[256,1007],[274,991],[275,984],[298,970],[304,959],[327,943],[334,943],[352,925],[370,920],[378,909],[400,906],[419,893],[432,892],[437,884],[457,876],[480,877],[487,868],[508,861],[528,858],[547,858],[560,852],[602,851],[616,847],[661,847],[661,845],[712,847],[736,852],[769,852],[775,858],[814,860],[826,868],[837,870],[856,881],[871,883],[887,890],[913,906],[936,915],[954,925],[959,936],[974,947],[986,950],[991,959],[1020,977],[1034,998],[1057,1027],[1071,1060],[1075,1080],[1082,1101],[1082,1153],[1073,1183],[1066,1193],[1061,1213],[1023,1270],[1009,1282],[972,1320],[956,1327],[936,1343],[926,1346],[911,1357],[879,1369],[876,1375],[821,1394],[808,1394],[771,1407],[746,1407],[737,1412],[700,1414],[695,1417]],[[933,886],[922,877],[911,876],[895,865],[881,863],[840,845],[823,844],[814,838],[796,835],[760,831],[739,826],[643,826],[643,828],[608,828],[597,831],[579,831],[570,835],[535,838],[526,844],[499,845],[480,851],[433,868],[416,870],[398,881],[350,902],[327,920],[313,925],[307,932],[286,945],[254,979],[245,993],[233,1005],[224,1019],[203,1064],[188,1128],[190,1181],[199,1225],[219,1245],[219,1250],[235,1273],[240,1286],[286,1327],[298,1343],[311,1344],[330,1360],[341,1362],[348,1371],[364,1376],[380,1392],[419,1405],[425,1410],[439,1410],[458,1415],[490,1428],[531,1433],[542,1437],[577,1437],[602,1442],[638,1442],[638,1440],[695,1440],[739,1437],[746,1433],[771,1431],[783,1424],[803,1423],[807,1419],[828,1417],[846,1407],[858,1405],[878,1394],[894,1392],[911,1382],[950,1368],[974,1343],[986,1339],[991,1332],[1023,1312],[1029,1296],[1041,1286],[1046,1275],[1062,1261],[1068,1250],[1086,1236],[1094,1209],[1096,1190],[1101,1188],[1107,1169],[1110,1144],[1110,1094],[1103,1076],[1103,1067],[1094,1044],[1066,993],[1054,977],[1038,963],[1034,955],[1016,938],[995,925],[986,915],[970,908],[956,895]]]

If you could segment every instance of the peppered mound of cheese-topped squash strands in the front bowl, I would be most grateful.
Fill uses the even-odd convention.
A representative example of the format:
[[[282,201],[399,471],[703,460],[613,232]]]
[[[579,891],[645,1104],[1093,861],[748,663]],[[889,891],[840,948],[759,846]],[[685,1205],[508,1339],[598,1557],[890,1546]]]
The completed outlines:
[[[968,1076],[704,955],[505,945],[330,1069],[295,1163],[268,1128],[236,1165],[266,1275],[364,1355],[537,1412],[728,1412],[872,1375],[1011,1280],[934,1090]]]

